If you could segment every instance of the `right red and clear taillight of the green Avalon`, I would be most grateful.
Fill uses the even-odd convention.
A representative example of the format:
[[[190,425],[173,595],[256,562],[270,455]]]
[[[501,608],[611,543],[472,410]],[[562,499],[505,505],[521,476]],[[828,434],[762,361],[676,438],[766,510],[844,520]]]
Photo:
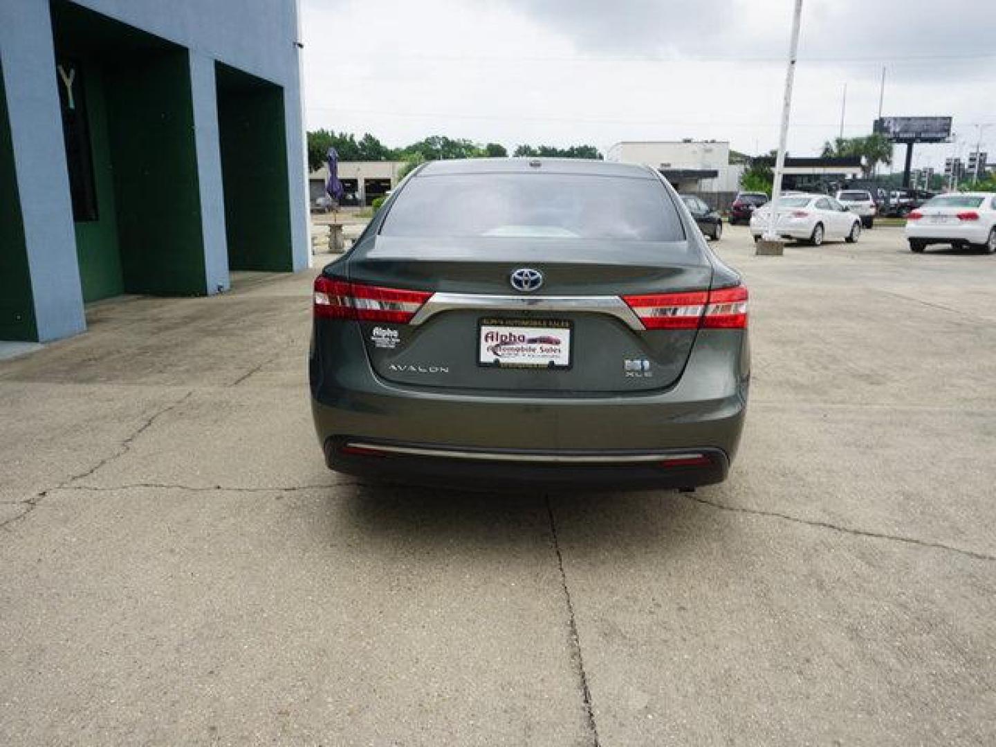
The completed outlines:
[[[622,300],[648,330],[747,327],[747,289],[742,285],[708,292],[623,296]]]

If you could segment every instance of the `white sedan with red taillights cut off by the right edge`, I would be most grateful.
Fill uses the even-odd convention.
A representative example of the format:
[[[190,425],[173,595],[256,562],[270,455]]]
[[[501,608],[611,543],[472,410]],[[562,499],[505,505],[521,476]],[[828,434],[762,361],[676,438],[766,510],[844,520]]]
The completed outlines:
[[[996,193],[941,194],[906,216],[909,248],[930,244],[996,252]]]

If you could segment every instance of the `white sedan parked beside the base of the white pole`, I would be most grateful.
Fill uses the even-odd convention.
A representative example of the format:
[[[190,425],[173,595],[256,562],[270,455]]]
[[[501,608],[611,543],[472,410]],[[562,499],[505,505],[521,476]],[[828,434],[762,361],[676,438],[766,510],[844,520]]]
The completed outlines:
[[[755,241],[768,230],[770,222],[769,202],[751,215],[750,232]],[[775,233],[785,239],[807,241],[813,246],[820,246],[824,239],[854,243],[862,235],[862,219],[825,194],[793,194],[778,200]]]

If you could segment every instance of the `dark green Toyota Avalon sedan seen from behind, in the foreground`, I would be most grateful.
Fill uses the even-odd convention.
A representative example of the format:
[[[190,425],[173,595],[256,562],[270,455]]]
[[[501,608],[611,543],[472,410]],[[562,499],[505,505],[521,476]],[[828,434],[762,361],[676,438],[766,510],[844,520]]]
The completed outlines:
[[[316,279],[310,377],[339,472],[691,489],[737,450],[747,289],[650,168],[436,161]]]

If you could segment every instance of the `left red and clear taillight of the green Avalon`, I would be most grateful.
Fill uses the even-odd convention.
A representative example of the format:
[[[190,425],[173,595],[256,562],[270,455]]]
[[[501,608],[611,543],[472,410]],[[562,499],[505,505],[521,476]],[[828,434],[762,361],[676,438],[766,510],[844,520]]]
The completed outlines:
[[[424,291],[348,283],[319,275],[315,279],[315,316],[407,324],[431,295]]]

